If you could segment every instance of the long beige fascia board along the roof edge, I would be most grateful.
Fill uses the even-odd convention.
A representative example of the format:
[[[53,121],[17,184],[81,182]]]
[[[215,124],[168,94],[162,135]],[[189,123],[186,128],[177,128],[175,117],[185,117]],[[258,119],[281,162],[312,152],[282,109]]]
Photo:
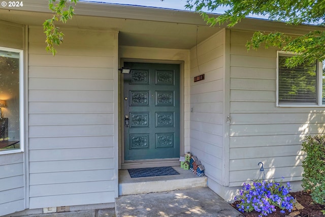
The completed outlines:
[[[50,10],[48,9],[48,0],[28,0],[24,2],[23,7],[2,9],[50,13]],[[123,19],[137,19],[207,26],[206,22],[202,19],[202,16],[200,16],[200,14],[196,12],[145,6],[96,2],[78,2],[75,8],[75,13],[81,16],[83,15]],[[218,14],[210,15],[218,16]],[[220,25],[220,27],[226,27],[226,24]],[[314,29],[324,30],[324,27],[319,27],[315,25],[303,24],[298,26],[291,26],[283,22],[271,21],[262,18],[245,18],[242,19],[241,22],[237,23],[232,28],[252,31],[265,30],[267,32],[281,30],[281,32],[290,33],[294,35],[301,35],[302,32],[309,32],[310,30]]]

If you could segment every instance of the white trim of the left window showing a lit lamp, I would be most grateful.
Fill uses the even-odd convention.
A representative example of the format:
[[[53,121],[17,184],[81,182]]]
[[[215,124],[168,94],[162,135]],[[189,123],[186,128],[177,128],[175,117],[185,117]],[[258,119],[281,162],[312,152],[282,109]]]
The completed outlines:
[[[15,150],[3,150],[0,151],[0,155],[9,153],[20,153],[24,152],[24,141],[25,141],[25,131],[24,131],[24,56],[23,50],[0,47],[0,50],[19,53],[19,144],[20,149]]]

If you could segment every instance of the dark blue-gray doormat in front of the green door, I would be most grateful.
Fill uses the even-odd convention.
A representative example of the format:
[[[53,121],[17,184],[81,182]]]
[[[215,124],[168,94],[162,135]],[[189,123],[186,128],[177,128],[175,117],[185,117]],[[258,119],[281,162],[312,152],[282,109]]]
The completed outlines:
[[[151,167],[128,169],[131,178],[148,177],[148,176],[161,176],[161,175],[178,175],[179,173],[173,167]]]

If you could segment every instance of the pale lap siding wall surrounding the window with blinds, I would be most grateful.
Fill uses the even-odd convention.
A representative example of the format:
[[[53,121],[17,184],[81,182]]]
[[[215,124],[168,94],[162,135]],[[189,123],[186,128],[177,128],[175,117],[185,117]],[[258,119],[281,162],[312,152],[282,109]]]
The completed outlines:
[[[324,133],[322,108],[276,107],[276,49],[248,51],[252,33],[231,31],[230,186],[260,177],[301,180],[306,135]]]

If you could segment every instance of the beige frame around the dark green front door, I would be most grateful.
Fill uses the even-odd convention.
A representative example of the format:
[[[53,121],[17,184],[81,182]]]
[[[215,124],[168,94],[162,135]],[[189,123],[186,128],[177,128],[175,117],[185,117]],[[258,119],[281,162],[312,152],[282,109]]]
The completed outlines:
[[[138,58],[121,58],[120,66],[124,66],[124,62],[145,63],[145,64],[179,64],[180,66],[180,155],[184,153],[184,61],[181,60],[158,60],[158,59],[138,59]],[[119,74],[119,108],[118,108],[118,129],[119,129],[119,169],[158,167],[158,166],[178,166],[178,158],[170,159],[153,159],[153,160],[137,160],[124,161],[124,96],[123,96],[123,74]]]

